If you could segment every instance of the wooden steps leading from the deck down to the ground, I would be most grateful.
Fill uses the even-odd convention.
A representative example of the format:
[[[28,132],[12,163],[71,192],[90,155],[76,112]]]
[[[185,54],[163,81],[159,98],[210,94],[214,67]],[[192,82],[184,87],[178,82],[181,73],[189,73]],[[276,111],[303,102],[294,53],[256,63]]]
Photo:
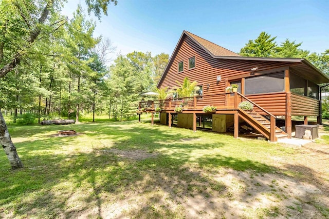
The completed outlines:
[[[255,112],[255,111],[246,111],[239,109],[239,116],[243,118],[243,120],[251,125],[255,130],[259,131],[264,135],[268,140],[270,140],[270,128],[271,123],[264,116]],[[278,141],[278,138],[289,138],[289,135],[281,130],[279,127],[275,127],[275,142]]]

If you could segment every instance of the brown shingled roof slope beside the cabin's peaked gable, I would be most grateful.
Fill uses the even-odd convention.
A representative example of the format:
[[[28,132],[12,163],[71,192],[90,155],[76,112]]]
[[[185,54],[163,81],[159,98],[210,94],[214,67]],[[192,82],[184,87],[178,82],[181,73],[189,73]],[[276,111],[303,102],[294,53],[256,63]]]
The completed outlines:
[[[209,52],[211,52],[214,56],[241,56],[239,54],[236,54],[235,52],[232,52],[228,49],[225,49],[221,46],[211,43],[210,41],[207,41],[207,39],[201,38],[188,31],[185,31],[185,32],[190,37],[195,39],[195,41],[198,42],[201,46],[203,46],[205,49],[207,49]]]

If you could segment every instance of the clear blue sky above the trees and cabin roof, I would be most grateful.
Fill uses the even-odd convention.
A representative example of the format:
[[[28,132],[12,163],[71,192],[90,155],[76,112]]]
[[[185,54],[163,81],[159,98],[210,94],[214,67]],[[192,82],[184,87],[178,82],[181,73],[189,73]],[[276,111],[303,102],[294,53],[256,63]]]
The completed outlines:
[[[84,0],[69,0],[69,18]],[[150,51],[172,54],[183,30],[239,52],[249,39],[265,31],[303,42],[301,48],[321,53],[329,49],[329,1],[152,1],[118,0],[108,16],[97,18],[95,36],[111,39],[116,54]]]

